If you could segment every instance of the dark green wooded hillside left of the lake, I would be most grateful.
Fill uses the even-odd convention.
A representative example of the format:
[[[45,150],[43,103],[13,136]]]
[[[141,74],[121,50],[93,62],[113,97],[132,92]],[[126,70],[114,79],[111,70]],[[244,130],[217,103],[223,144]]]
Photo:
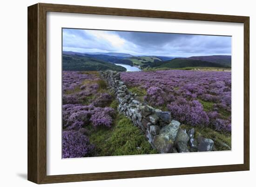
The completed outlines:
[[[62,69],[64,71],[126,71],[126,68],[119,65],[111,64],[78,54],[63,54]]]

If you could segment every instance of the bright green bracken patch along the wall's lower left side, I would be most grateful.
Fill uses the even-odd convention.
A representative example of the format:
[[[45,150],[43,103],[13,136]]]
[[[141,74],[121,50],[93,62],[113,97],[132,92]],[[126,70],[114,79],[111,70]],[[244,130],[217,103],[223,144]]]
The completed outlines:
[[[97,156],[157,154],[141,130],[123,115],[116,116],[111,129],[91,130],[93,133],[90,133],[89,139],[96,145]]]

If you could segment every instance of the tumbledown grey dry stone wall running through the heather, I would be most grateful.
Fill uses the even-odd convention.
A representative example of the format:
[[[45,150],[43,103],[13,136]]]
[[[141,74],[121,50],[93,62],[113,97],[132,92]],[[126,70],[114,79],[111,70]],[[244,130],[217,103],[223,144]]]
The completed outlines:
[[[195,129],[180,128],[181,123],[172,119],[171,113],[155,109],[136,100],[136,94],[128,91],[116,71],[100,71],[108,89],[115,93],[119,103],[117,110],[131,119],[145,134],[152,148],[159,153],[181,153],[211,151],[213,140],[199,136],[194,138]]]

